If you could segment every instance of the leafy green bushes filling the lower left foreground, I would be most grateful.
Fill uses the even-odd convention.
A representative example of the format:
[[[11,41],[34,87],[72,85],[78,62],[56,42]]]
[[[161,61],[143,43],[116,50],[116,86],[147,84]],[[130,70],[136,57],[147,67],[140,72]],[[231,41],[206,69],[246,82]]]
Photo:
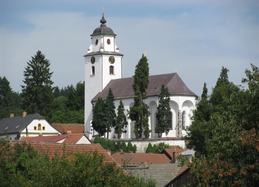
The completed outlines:
[[[115,162],[104,163],[104,156],[97,151],[64,154],[49,159],[40,155],[27,143],[16,144],[14,153],[8,149],[9,143],[0,140],[3,159],[0,162],[1,186],[27,187],[155,187],[154,180],[136,178],[126,174]],[[65,149],[65,148],[64,148]],[[3,151],[5,150],[5,151]]]

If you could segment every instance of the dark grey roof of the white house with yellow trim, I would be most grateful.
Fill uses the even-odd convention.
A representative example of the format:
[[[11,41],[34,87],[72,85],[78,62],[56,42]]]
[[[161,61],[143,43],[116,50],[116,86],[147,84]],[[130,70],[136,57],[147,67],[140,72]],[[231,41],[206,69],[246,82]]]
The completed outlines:
[[[11,117],[11,118],[3,118],[0,121],[0,134],[3,134],[7,127],[8,128],[7,128],[6,133],[20,133],[34,119],[45,119],[45,118],[38,113],[37,114],[28,114],[24,117],[16,116],[16,117]]]

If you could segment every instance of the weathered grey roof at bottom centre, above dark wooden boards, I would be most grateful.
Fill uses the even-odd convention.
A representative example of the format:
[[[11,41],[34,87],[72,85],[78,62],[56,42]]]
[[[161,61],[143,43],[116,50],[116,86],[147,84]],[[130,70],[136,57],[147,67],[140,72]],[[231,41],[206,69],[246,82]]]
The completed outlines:
[[[179,171],[179,168],[180,167],[178,167],[178,164],[150,164],[146,169],[125,169],[125,171],[133,176],[139,175],[145,177],[146,179],[151,177],[151,179],[156,180],[156,187],[163,187],[174,179]]]

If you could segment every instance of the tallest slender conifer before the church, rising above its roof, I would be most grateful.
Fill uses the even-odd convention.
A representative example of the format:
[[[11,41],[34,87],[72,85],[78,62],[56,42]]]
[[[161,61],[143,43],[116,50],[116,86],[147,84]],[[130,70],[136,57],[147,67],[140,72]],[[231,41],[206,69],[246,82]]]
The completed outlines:
[[[144,100],[148,98],[146,92],[149,83],[148,74],[148,59],[142,54],[142,58],[136,65],[134,83],[132,86],[134,90],[134,105],[130,107],[129,111],[129,119],[134,121],[134,133],[136,138],[142,136],[143,129],[145,138],[149,138],[149,133],[151,132],[148,125],[148,117],[150,116],[149,107],[144,103]]]

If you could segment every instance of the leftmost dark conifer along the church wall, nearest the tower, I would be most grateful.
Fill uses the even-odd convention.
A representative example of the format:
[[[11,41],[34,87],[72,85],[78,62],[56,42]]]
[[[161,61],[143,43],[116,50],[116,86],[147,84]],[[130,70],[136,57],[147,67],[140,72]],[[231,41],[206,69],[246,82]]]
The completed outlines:
[[[104,120],[105,117],[105,101],[99,97],[94,108],[93,108],[93,120],[92,120],[92,127],[95,131],[99,133],[99,138],[100,135],[103,136],[104,133],[106,132],[106,123]]]

